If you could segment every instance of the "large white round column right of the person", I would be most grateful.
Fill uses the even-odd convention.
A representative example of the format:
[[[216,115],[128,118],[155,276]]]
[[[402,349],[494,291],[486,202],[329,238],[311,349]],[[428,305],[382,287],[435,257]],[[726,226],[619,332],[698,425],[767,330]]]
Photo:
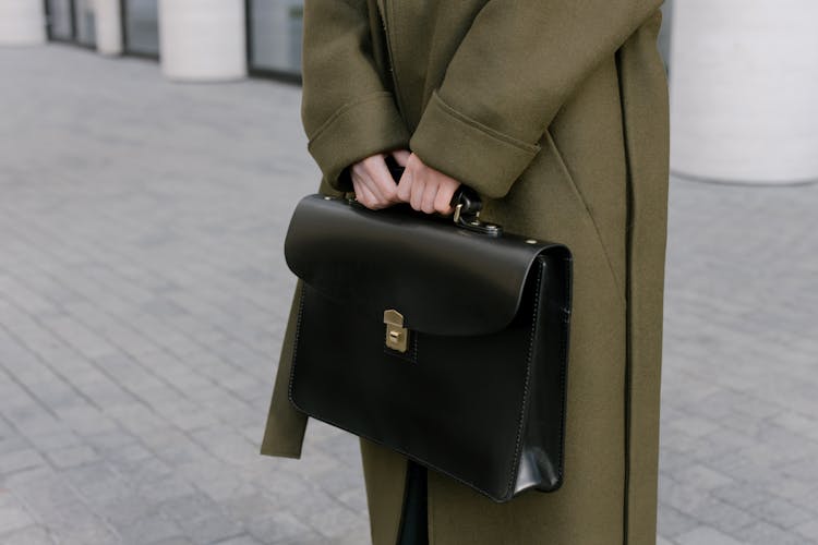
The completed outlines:
[[[674,2],[671,168],[748,183],[818,180],[818,2]]]

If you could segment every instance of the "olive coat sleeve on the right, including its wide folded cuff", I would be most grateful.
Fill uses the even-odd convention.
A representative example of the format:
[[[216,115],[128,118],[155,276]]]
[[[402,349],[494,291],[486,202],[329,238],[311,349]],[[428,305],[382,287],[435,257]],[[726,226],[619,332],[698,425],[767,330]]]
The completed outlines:
[[[498,198],[572,92],[661,0],[489,0],[412,134],[425,164]]]

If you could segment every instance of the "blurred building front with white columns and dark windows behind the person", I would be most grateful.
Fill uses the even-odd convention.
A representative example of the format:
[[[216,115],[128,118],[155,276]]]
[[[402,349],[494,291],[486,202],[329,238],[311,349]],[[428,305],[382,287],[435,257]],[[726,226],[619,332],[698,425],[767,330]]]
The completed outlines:
[[[818,2],[667,0],[663,13],[672,170],[818,181]],[[303,0],[0,0],[0,44],[47,35],[158,59],[171,80],[300,82],[302,28]]]

